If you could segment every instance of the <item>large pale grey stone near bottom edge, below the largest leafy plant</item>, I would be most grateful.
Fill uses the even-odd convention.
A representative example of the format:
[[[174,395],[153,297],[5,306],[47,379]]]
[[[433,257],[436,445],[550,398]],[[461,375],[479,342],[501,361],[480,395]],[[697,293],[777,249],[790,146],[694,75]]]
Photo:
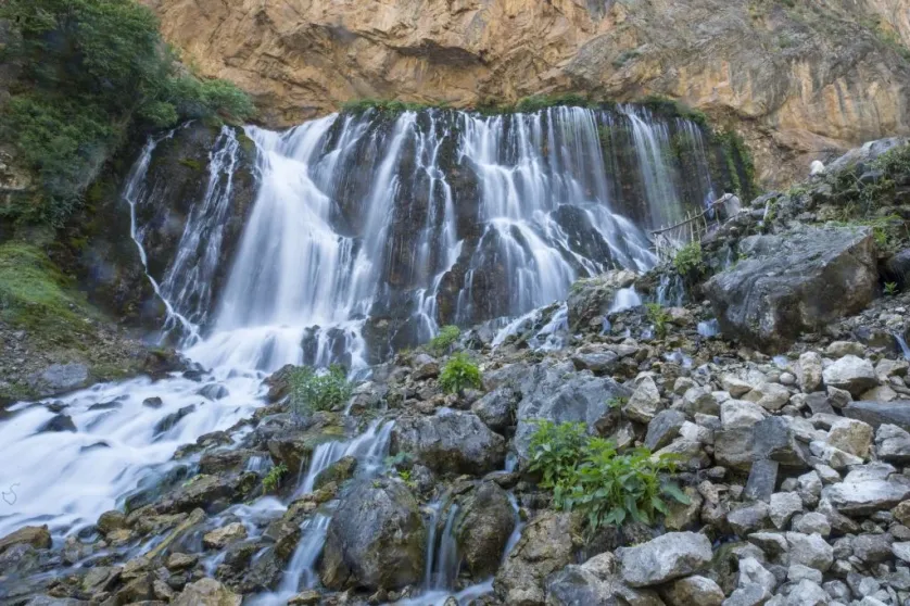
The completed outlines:
[[[697,572],[711,560],[711,543],[695,532],[668,532],[635,547],[617,551],[630,586],[657,585]]]

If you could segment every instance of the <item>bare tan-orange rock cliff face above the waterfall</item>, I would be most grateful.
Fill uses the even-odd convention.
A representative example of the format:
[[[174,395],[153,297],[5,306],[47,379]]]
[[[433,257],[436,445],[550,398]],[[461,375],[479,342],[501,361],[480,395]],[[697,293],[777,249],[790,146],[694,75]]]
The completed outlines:
[[[273,126],[368,97],[660,93],[741,130],[767,185],[910,131],[908,0],[144,1],[188,63],[251,91]]]

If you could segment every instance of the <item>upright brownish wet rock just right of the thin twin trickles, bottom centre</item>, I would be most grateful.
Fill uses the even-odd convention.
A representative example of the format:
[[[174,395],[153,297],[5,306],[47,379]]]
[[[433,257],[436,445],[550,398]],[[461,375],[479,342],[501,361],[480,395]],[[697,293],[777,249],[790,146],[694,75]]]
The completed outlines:
[[[515,529],[508,494],[494,482],[482,482],[460,502],[455,526],[458,553],[476,579],[493,576]]]

